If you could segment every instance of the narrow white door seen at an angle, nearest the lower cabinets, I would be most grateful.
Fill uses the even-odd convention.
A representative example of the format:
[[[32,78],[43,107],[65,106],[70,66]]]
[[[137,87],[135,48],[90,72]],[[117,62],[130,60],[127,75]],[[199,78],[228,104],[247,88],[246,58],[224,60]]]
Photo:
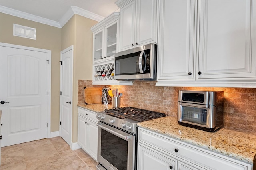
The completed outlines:
[[[73,46],[61,51],[60,136],[70,145],[72,127]]]

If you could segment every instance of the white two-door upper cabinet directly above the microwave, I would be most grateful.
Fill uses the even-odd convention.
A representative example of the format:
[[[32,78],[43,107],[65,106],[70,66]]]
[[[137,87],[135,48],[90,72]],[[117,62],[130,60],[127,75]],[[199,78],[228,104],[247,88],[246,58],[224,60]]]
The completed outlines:
[[[118,0],[120,51],[156,43],[158,0]]]

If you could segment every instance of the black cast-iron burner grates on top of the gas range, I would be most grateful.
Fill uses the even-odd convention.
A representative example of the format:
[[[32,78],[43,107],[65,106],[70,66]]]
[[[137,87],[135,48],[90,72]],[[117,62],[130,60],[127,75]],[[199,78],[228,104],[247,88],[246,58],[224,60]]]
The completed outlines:
[[[120,108],[106,109],[105,112],[112,113],[115,115],[122,115],[126,118],[132,119],[134,121],[139,121],[139,122],[148,121],[150,119],[156,119],[159,117],[166,116],[164,113],[138,109],[135,107],[120,107]]]

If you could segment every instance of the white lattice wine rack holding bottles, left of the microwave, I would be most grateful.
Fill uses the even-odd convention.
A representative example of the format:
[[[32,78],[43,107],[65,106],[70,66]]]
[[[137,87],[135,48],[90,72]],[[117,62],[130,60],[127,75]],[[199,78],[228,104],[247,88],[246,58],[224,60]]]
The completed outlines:
[[[114,63],[96,65],[94,80],[104,81],[104,80],[114,80]]]

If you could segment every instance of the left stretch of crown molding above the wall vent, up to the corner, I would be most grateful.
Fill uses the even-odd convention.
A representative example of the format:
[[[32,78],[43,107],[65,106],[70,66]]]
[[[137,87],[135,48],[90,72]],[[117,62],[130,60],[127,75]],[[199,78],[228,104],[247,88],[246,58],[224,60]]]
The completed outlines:
[[[5,14],[9,14],[9,15],[12,15],[12,16],[24,18],[24,19],[27,19],[27,20],[40,22],[42,24],[47,24],[47,25],[50,25],[50,26],[61,28],[59,22],[49,20],[49,19],[46,19],[46,18],[42,18],[40,16],[35,16],[35,15],[32,15],[32,14],[28,14],[26,12],[21,12],[21,11],[18,11],[18,10],[14,10],[12,8],[8,8],[8,7],[5,7],[5,6],[0,6],[0,12],[5,13]]]

